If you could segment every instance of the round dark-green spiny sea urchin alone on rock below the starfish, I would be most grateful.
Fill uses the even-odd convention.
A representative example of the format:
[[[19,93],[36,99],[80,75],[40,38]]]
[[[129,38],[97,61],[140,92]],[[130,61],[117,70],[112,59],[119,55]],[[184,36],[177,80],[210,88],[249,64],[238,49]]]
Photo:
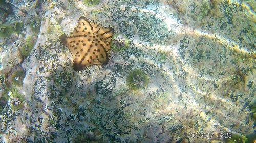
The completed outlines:
[[[144,89],[148,84],[148,76],[142,70],[135,69],[127,75],[126,83],[132,90]]]

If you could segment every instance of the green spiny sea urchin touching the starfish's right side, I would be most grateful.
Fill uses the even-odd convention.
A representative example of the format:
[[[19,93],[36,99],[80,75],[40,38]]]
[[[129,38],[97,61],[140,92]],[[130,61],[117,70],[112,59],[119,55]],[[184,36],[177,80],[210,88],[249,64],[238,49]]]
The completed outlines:
[[[111,49],[113,51],[123,51],[129,46],[129,38],[123,34],[116,33],[111,39]]]

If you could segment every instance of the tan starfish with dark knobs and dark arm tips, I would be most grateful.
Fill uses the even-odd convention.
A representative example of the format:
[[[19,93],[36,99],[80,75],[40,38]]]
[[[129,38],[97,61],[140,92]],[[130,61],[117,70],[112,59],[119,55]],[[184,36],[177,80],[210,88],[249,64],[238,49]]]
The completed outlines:
[[[70,35],[62,35],[61,42],[72,53],[74,70],[80,71],[89,65],[106,63],[113,33],[113,28],[102,27],[82,17]]]

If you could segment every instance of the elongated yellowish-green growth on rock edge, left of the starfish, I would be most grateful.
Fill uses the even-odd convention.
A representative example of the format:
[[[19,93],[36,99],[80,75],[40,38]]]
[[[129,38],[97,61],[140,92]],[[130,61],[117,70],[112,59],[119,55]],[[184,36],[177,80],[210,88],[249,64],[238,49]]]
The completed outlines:
[[[19,53],[20,55],[22,55],[22,58],[24,59],[30,54],[33,48],[34,48],[34,38],[33,38],[33,35],[29,35],[25,39],[25,44],[19,48]]]

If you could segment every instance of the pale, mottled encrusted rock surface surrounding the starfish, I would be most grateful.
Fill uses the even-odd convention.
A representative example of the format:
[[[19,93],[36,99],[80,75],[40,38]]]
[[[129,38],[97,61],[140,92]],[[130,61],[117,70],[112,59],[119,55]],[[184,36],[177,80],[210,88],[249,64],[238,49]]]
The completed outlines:
[[[0,37],[0,97],[21,66],[25,103],[15,111],[1,103],[0,142],[222,142],[218,133],[255,130],[253,1],[6,2],[13,13],[1,20],[24,27]],[[130,44],[107,64],[76,72],[59,37],[83,16]],[[18,46],[28,35],[34,47],[22,58]],[[146,88],[127,87],[133,69],[148,75]],[[198,132],[210,137],[185,136]]]

